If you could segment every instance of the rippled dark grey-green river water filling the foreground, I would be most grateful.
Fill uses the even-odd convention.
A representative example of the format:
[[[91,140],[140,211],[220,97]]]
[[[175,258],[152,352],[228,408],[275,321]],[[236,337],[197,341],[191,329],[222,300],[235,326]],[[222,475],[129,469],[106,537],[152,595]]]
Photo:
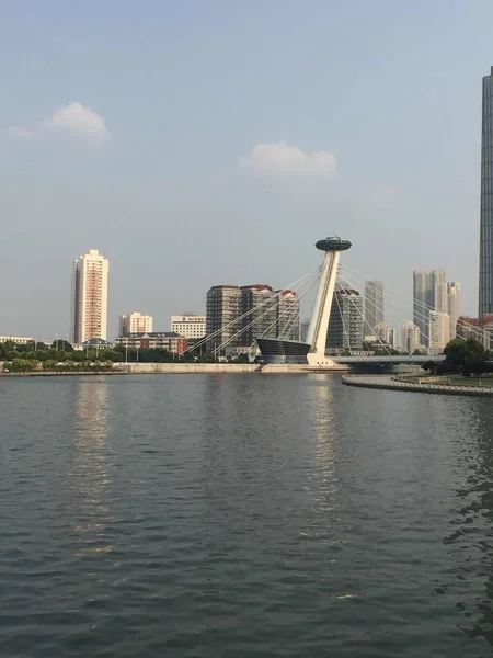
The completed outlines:
[[[493,405],[0,379],[0,656],[493,655]]]

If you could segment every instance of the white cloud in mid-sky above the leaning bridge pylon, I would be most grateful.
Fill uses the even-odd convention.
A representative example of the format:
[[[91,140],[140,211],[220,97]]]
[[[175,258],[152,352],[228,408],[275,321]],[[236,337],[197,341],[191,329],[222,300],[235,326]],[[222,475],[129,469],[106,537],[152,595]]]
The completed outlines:
[[[329,151],[309,152],[286,141],[278,141],[257,144],[248,157],[241,158],[240,167],[300,178],[332,178],[337,168],[337,158]]]

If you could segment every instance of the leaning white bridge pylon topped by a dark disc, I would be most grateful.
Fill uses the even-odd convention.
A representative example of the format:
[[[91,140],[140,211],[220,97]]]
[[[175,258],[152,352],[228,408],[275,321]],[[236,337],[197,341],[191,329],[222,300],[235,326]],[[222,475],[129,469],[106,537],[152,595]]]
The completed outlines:
[[[323,265],[320,274],[313,313],[308,328],[307,342],[311,345],[307,354],[309,365],[334,366],[332,359],[325,355],[326,333],[331,317],[332,299],[334,297],[335,280],[341,251],[351,248],[348,240],[325,238],[316,243],[317,249],[324,251]]]

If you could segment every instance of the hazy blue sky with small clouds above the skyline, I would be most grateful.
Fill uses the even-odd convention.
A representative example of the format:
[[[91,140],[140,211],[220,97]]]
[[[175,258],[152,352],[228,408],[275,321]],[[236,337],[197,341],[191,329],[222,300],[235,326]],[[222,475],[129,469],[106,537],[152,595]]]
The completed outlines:
[[[211,285],[288,286],[334,234],[389,324],[413,269],[477,315],[492,24],[491,0],[2,0],[0,334],[67,337],[89,249],[113,338]]]

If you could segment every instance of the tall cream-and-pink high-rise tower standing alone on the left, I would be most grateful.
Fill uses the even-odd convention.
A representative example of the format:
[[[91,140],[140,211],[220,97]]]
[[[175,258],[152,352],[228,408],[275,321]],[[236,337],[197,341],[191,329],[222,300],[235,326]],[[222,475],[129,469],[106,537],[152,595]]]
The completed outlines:
[[[76,259],[72,269],[70,337],[73,343],[106,340],[108,261],[98,249]]]

